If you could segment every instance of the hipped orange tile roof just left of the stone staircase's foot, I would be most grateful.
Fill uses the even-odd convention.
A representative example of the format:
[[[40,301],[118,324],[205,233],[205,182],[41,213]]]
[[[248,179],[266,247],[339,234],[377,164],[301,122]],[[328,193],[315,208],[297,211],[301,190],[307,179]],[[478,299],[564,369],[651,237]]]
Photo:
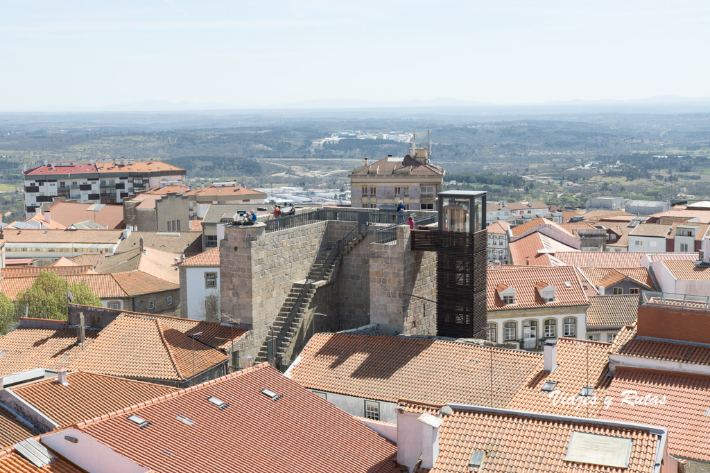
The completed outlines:
[[[226,355],[157,318],[119,316],[87,344],[72,369],[112,376],[185,381]]]

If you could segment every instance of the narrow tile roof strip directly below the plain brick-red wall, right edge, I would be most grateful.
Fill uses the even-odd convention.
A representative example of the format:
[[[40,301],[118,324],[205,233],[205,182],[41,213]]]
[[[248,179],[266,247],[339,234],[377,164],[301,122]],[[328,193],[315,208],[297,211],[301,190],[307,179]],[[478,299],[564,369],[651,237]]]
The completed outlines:
[[[628,357],[710,365],[710,347],[708,346],[645,340],[638,338],[636,333],[635,324],[622,328],[614,340],[611,352],[614,355]]]

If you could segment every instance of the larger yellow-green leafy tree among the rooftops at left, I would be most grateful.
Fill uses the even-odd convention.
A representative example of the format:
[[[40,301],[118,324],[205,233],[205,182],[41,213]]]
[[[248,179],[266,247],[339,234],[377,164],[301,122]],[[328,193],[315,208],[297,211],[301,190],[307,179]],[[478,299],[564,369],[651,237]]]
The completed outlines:
[[[68,284],[66,279],[61,279],[50,271],[40,272],[32,285],[18,294],[17,302],[21,308],[28,307],[28,317],[65,320],[69,302],[67,291],[72,294],[73,304],[102,305],[101,299],[92,292],[88,284],[83,282]]]

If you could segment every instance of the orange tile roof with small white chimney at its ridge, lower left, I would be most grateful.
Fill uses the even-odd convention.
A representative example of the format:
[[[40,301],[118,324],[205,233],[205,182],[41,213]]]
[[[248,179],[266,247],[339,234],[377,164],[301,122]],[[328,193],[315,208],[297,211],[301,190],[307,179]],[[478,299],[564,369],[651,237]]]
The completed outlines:
[[[58,423],[60,427],[67,427],[178,391],[178,388],[161,384],[91,372],[69,373],[67,382],[67,386],[62,386],[54,377],[12,386],[9,389]],[[25,435],[24,438],[28,436],[30,435]]]

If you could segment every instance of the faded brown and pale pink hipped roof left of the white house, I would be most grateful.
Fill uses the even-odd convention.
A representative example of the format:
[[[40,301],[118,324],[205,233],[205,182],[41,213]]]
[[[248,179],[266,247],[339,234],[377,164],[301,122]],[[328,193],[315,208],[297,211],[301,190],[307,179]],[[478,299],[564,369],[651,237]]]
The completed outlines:
[[[165,279],[174,284],[180,284],[180,274],[173,267],[175,253],[146,248],[141,253],[140,248],[107,256],[96,267],[99,273],[119,273],[142,271],[151,276]]]

